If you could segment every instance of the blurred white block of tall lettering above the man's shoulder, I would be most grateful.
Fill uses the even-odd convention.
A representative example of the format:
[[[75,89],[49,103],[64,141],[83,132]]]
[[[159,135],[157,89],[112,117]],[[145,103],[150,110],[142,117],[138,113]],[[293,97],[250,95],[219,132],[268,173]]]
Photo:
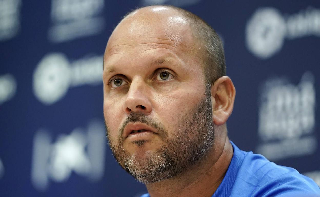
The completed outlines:
[[[309,155],[316,151],[316,90],[306,72],[295,86],[284,78],[265,82],[260,98],[257,152],[270,160]]]

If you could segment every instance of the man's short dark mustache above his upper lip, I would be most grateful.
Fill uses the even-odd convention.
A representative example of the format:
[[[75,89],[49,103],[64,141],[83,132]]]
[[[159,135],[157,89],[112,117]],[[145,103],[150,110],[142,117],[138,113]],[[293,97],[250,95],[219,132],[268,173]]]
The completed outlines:
[[[120,126],[119,139],[122,139],[124,128],[129,123],[135,123],[135,122],[144,123],[150,127],[155,128],[158,131],[158,134],[164,138],[168,136],[167,130],[165,129],[164,125],[161,124],[160,122],[157,122],[156,120],[151,119],[150,117],[148,117],[146,114],[142,112],[131,112],[129,116],[124,120],[123,124]]]

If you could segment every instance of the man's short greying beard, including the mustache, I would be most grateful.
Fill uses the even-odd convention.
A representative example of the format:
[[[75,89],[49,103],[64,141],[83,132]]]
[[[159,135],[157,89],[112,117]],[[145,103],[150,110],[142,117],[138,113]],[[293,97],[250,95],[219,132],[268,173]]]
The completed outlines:
[[[201,160],[214,145],[214,128],[210,87],[206,88],[205,98],[185,116],[178,120],[173,138],[168,137],[164,125],[143,113],[132,112],[124,121],[118,136],[118,146],[109,145],[117,162],[136,180],[148,184],[173,178]],[[130,154],[123,146],[122,133],[129,122],[145,123],[157,129],[164,145],[155,152],[145,153],[143,158]],[[106,128],[108,126],[106,125]],[[107,129],[108,132],[108,129]],[[108,135],[107,135],[108,136]],[[142,147],[144,140],[134,141]]]

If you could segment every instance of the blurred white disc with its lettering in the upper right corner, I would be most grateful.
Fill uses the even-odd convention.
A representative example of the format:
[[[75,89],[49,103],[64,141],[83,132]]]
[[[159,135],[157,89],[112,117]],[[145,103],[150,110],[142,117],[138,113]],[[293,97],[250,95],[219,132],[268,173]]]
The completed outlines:
[[[284,17],[275,8],[260,8],[246,25],[246,44],[250,52],[262,59],[279,52],[284,39],[320,36],[320,10],[308,8]]]

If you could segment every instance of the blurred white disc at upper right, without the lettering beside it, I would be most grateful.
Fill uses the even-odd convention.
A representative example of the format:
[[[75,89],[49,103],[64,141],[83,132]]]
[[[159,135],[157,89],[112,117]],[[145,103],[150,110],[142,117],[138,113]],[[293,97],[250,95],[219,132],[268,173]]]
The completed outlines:
[[[277,53],[283,45],[286,23],[274,8],[257,10],[246,25],[246,43],[256,56],[266,59]]]

